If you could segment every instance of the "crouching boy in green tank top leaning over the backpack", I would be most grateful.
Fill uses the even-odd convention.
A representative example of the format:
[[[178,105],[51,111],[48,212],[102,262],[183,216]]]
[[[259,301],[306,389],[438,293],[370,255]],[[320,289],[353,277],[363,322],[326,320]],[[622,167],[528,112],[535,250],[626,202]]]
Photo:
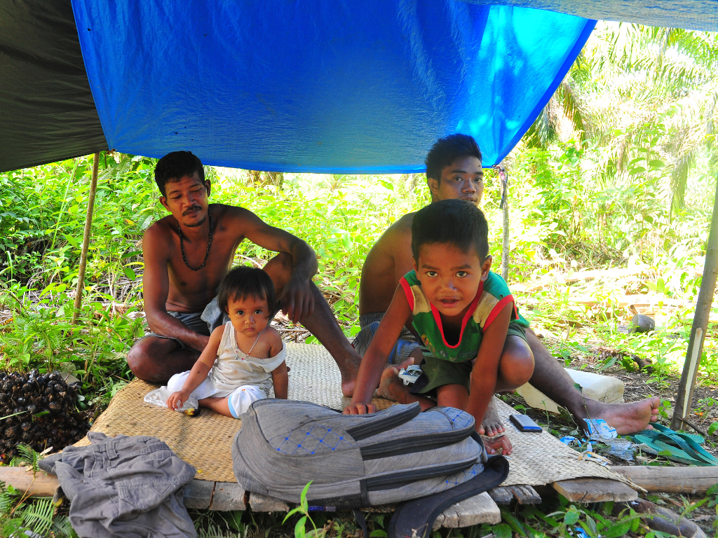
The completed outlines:
[[[515,390],[533,374],[528,322],[505,280],[490,270],[488,224],[475,205],[430,204],[414,215],[411,237],[414,270],[396,288],[344,412],[376,411],[370,402],[378,387],[380,396],[400,403],[470,412],[478,430],[495,392]],[[413,386],[404,386],[396,368],[384,368],[405,324],[421,338],[422,374]],[[488,453],[512,450],[504,435],[485,445]]]

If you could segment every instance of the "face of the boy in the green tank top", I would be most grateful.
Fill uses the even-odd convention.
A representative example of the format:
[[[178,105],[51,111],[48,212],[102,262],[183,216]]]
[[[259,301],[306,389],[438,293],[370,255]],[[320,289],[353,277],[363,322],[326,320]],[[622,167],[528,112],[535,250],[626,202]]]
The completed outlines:
[[[482,261],[475,248],[465,253],[449,243],[421,245],[414,260],[424,295],[444,316],[466,313],[490,268],[491,256]]]

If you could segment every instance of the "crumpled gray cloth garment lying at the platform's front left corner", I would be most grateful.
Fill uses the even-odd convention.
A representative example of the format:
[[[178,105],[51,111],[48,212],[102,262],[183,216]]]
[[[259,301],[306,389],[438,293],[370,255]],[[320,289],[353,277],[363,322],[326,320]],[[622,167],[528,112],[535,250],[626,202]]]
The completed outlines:
[[[39,463],[60,479],[80,538],[197,536],[182,499],[194,467],[149,435],[88,438]]]

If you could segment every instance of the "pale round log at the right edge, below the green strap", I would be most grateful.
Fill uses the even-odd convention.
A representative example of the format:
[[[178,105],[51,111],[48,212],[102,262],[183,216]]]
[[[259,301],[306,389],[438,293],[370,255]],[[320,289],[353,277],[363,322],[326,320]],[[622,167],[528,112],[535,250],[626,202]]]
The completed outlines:
[[[649,492],[704,494],[718,483],[718,467],[610,466]]]

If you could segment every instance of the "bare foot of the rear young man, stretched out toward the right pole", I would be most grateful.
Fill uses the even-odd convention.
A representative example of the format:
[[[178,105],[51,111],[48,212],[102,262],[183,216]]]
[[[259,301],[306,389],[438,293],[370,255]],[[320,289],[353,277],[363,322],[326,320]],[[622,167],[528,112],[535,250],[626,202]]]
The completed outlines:
[[[638,402],[618,404],[606,404],[587,398],[586,406],[588,413],[582,409],[582,413],[576,412],[574,415],[579,419],[588,418],[588,415],[591,415],[591,418],[602,418],[612,428],[616,428],[618,435],[629,435],[643,430],[653,430],[651,423],[658,420],[661,398],[654,396]],[[580,420],[579,425],[583,428],[584,421]]]

